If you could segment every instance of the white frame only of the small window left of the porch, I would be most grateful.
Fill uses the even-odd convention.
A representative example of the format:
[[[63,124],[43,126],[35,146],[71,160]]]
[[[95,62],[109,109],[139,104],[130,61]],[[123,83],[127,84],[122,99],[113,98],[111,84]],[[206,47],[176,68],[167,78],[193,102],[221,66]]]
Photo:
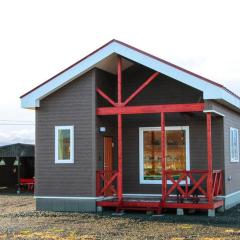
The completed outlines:
[[[58,159],[58,130],[70,130],[70,159]],[[74,126],[55,126],[55,163],[74,163]]]

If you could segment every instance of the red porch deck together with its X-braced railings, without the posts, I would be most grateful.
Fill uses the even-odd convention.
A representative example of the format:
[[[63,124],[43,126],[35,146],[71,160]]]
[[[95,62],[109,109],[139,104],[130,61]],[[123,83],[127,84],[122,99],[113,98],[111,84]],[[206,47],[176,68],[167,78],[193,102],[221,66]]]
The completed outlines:
[[[180,177],[176,180],[174,176]],[[110,177],[111,176],[111,177]],[[97,171],[97,206],[115,207],[117,211],[127,210],[152,210],[161,213],[162,209],[216,209],[223,205],[223,201],[217,196],[222,194],[222,170],[212,172],[212,192],[207,189],[208,171],[165,171],[167,181],[166,195],[163,194],[123,194],[118,199],[118,173],[113,171]],[[190,181],[192,184],[190,184]],[[209,199],[212,199],[210,202]]]

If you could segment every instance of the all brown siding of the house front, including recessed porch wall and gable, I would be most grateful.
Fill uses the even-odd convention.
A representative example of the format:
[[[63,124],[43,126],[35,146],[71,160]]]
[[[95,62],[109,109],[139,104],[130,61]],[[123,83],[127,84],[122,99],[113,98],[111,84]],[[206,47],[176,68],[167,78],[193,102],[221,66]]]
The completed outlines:
[[[124,99],[151,74],[150,70],[125,72]],[[134,77],[135,76],[135,77]],[[36,111],[36,195],[95,196],[96,161],[103,166],[103,136],[113,136],[114,167],[117,168],[117,122],[115,117],[95,117],[95,79],[98,86],[116,99],[116,78],[100,70],[86,73],[41,101]],[[110,81],[110,82],[109,82]],[[202,94],[161,75],[133,105],[189,103],[201,101]],[[97,97],[98,105],[104,101]],[[106,104],[106,103],[105,103]],[[191,168],[206,169],[206,120],[204,115],[167,114],[168,126],[190,126]],[[55,125],[74,125],[75,163],[54,163]],[[159,193],[159,185],[139,184],[139,127],[159,126],[158,115],[123,118],[123,188],[125,193]],[[105,134],[99,127],[107,127]],[[223,168],[223,119],[213,118],[214,168]],[[96,136],[97,135],[97,136]],[[96,140],[97,139],[97,140]],[[97,141],[97,151],[96,148]]]

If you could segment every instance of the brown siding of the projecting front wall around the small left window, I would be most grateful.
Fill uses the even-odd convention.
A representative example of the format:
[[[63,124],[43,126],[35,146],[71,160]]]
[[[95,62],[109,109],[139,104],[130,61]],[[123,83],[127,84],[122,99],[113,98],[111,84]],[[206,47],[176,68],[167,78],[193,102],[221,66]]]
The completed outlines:
[[[40,102],[36,110],[37,196],[95,196],[95,72]],[[55,126],[74,126],[74,164],[55,164]]]

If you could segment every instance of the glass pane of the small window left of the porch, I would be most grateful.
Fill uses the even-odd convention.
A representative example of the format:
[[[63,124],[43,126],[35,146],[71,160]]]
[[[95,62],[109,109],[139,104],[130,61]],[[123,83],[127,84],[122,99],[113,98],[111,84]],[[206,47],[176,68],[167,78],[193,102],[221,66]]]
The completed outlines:
[[[58,159],[70,159],[70,129],[58,129]]]

